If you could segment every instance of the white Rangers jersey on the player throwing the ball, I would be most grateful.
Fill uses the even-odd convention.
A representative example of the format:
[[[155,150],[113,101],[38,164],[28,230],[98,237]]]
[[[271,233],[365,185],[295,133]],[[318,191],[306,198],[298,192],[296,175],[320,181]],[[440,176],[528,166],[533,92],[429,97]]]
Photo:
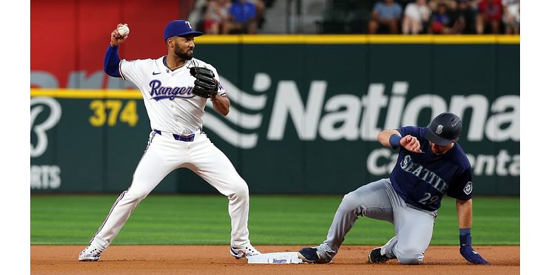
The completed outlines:
[[[118,65],[121,78],[129,80],[140,89],[152,129],[186,135],[202,129],[207,98],[191,92],[196,78],[189,74],[191,67],[207,67],[218,72],[208,63],[192,58],[186,65],[171,71],[165,65],[165,56],[153,59],[126,61]],[[220,83],[220,81],[218,81]],[[218,84],[218,94],[226,94]]]

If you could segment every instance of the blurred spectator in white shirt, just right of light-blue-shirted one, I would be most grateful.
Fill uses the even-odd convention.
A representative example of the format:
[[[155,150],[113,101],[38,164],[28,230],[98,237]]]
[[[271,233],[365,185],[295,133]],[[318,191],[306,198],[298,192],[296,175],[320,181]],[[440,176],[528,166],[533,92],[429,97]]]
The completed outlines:
[[[403,34],[419,34],[424,32],[430,19],[430,8],[426,0],[416,0],[408,3],[404,10],[404,19],[402,21]]]

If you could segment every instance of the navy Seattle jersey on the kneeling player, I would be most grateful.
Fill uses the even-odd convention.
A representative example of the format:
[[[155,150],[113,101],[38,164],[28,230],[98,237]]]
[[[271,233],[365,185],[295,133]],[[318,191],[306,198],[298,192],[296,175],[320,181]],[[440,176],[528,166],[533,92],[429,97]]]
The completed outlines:
[[[424,153],[413,153],[400,147],[391,182],[406,203],[434,211],[440,208],[444,194],[455,199],[471,198],[472,175],[463,149],[455,143],[444,155],[435,155],[424,138],[426,127],[405,126],[397,129],[403,136],[413,135]]]

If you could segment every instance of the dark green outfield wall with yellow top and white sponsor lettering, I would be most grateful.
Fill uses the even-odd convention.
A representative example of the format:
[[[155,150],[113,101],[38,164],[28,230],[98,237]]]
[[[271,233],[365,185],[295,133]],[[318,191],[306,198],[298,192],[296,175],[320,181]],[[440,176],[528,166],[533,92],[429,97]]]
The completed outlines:
[[[519,195],[519,37],[378,37],[196,39],[231,100],[227,117],[207,104],[204,131],[251,193],[344,194],[387,177],[397,151],[377,133],[452,111],[473,193]],[[143,99],[101,71],[69,79],[31,89],[31,192],[121,192],[151,131]],[[154,192],[216,190],[176,170]]]

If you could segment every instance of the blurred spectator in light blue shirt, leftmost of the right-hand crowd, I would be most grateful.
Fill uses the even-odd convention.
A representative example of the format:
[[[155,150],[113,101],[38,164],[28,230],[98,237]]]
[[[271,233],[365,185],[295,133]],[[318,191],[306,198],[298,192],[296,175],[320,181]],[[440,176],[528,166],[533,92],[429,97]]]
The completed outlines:
[[[371,19],[368,23],[370,34],[382,32],[381,26],[388,30],[388,33],[397,34],[399,21],[402,18],[402,6],[394,3],[394,0],[378,1],[371,12]]]

